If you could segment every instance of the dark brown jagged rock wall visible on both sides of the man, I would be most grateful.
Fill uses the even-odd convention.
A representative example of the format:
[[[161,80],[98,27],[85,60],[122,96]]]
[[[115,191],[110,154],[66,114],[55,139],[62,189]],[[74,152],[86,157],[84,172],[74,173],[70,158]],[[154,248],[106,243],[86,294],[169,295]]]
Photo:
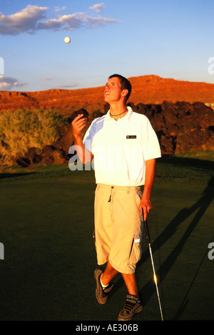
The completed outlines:
[[[129,105],[136,113],[146,115],[151,121],[161,144],[162,155],[214,150],[214,111],[204,103],[164,101],[161,104],[129,103]],[[71,158],[68,150],[73,145],[71,122],[78,113],[88,116],[88,126],[93,117],[102,115],[88,115],[84,109],[77,110],[66,119],[67,124],[58,128],[61,138],[56,143],[46,145],[41,153],[36,153],[34,148],[29,149],[24,157],[16,159],[16,164],[26,167],[35,163],[43,165],[68,163]],[[83,130],[82,137],[86,129]]]

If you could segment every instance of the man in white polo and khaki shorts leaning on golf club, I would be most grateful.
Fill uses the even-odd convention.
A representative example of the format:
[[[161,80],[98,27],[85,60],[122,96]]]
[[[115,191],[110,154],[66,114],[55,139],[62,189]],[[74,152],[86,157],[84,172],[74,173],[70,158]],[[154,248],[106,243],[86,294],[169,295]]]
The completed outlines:
[[[161,150],[156,133],[145,115],[134,113],[126,102],[131,83],[121,75],[108,78],[104,97],[110,109],[96,118],[84,139],[86,118],[78,115],[72,123],[73,140],[83,163],[93,158],[96,176],[95,237],[98,265],[96,299],[105,304],[113,289],[111,280],[121,273],[128,289],[118,320],[131,320],[143,309],[136,284],[136,264],[141,259],[142,222],[152,208],[151,190],[156,158]],[[143,194],[141,186],[143,187]]]

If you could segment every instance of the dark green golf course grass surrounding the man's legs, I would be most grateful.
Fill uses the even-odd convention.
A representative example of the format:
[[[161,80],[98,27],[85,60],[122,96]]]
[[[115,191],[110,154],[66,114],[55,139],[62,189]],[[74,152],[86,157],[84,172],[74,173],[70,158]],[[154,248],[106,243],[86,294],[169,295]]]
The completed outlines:
[[[148,227],[164,320],[214,319],[213,168],[213,152],[157,160]],[[93,170],[68,165],[1,169],[1,321],[117,320],[127,294],[121,275],[106,305],[95,297],[95,187]],[[144,234],[142,249],[144,308],[133,321],[161,320]]]

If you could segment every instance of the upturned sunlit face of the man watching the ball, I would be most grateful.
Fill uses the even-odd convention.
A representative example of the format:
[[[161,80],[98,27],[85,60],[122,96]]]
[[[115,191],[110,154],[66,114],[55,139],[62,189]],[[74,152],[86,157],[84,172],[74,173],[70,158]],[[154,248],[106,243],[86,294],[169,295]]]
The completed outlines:
[[[120,100],[122,92],[123,90],[121,90],[121,83],[119,78],[113,77],[108,79],[108,83],[106,83],[104,91],[104,98],[106,103]]]

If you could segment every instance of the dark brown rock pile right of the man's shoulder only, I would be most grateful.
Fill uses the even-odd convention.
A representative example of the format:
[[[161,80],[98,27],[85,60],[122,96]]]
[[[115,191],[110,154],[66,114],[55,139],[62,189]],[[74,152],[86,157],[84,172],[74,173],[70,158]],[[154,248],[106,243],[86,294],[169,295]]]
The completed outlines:
[[[164,101],[132,107],[151,120],[163,155],[214,150],[214,111],[204,103]]]

